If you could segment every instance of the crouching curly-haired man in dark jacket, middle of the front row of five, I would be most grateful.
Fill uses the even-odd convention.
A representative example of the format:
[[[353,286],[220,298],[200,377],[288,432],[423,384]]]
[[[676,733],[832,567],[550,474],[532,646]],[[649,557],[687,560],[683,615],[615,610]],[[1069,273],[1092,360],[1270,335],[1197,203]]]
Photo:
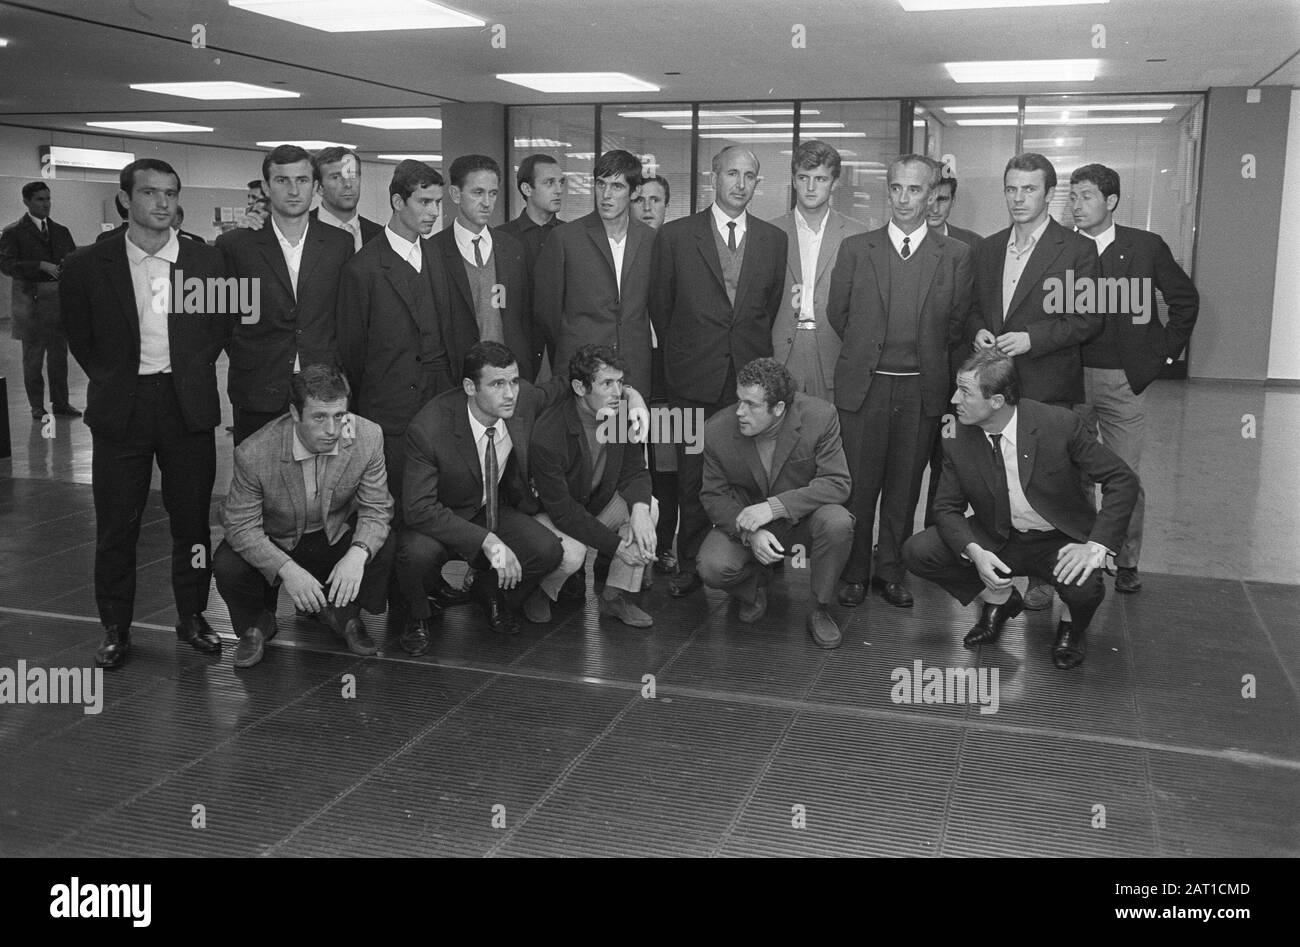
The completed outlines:
[[[573,397],[545,411],[532,436],[533,484],[545,510],[537,519],[564,550],[559,568],[542,579],[542,592],[555,601],[594,549],[610,559],[601,614],[646,628],[654,619],[630,596],[641,592],[654,562],[658,516],[645,451],[618,427],[625,407],[623,359],[608,346],[584,345],[560,376],[569,379]]]

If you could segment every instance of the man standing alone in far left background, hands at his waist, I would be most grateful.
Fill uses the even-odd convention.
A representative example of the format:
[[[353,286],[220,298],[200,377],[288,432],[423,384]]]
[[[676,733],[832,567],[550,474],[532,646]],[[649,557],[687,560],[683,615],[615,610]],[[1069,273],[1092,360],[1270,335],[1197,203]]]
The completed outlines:
[[[81,418],[68,402],[68,337],[58,323],[58,274],[64,259],[77,248],[62,224],[49,220],[49,185],[22,186],[27,212],[0,233],[0,272],[13,277],[13,337],[22,342],[22,382],[31,416],[46,414],[46,380],[61,418]]]

